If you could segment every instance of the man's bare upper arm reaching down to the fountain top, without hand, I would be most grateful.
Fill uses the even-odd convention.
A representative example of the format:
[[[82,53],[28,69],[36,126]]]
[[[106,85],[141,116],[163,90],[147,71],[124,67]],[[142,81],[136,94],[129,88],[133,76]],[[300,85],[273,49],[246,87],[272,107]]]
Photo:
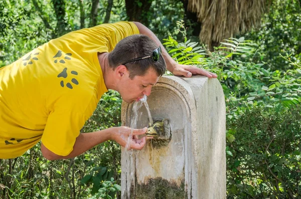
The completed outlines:
[[[133,23],[137,26],[141,35],[148,36],[149,38],[154,40],[158,44],[158,46],[161,46],[162,55],[165,59],[165,62],[167,65],[167,70],[173,72],[173,67],[176,64],[176,61],[168,54],[168,52],[165,50],[164,46],[162,45],[160,40],[157,38],[157,36],[152,31],[150,31],[147,27],[142,25],[141,23],[138,23],[138,22],[133,22]]]

